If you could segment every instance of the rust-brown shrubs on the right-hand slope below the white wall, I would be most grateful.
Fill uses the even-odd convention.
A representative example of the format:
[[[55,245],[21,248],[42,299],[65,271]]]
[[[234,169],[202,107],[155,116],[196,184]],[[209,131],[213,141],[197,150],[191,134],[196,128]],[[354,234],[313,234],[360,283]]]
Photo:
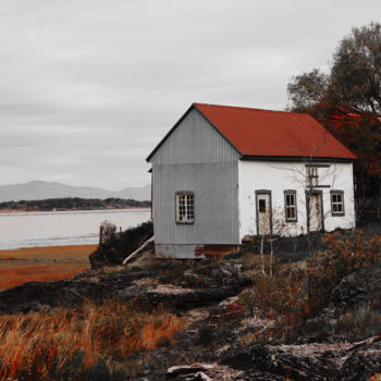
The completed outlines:
[[[314,262],[278,265],[273,276],[261,273],[256,265],[253,286],[239,297],[247,314],[268,325],[255,334],[249,332],[245,342],[292,342],[303,333],[306,320],[327,307],[333,288],[343,278],[359,268],[381,262],[380,236],[367,236],[361,231],[345,234],[337,231],[327,233],[322,241],[323,249]],[[373,311],[377,303],[374,299],[371,306],[340,317],[337,330],[342,328],[348,333],[358,332],[360,325],[365,330],[369,328],[380,316]]]

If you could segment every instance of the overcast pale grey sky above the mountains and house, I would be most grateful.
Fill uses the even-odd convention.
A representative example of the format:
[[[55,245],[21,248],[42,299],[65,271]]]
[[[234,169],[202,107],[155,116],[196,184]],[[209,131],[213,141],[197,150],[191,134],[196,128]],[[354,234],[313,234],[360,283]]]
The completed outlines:
[[[380,0],[1,0],[0,185],[118,190],[193,102],[283,110]]]

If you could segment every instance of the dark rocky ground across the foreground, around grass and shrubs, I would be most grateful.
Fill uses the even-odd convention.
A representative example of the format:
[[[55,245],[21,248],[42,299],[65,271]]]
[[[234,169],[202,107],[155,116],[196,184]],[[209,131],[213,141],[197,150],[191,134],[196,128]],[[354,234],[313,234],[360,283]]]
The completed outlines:
[[[238,260],[155,266],[136,261],[112,271],[85,271],[71,280],[30,282],[1,292],[0,312],[53,312],[58,306],[119,298],[184,316],[188,327],[174,343],[128,359],[133,379],[140,381],[369,380],[381,373],[380,275],[381,268],[373,266],[345,276],[325,308],[287,345],[250,340],[272,322],[247,315],[238,294],[254,278]],[[358,327],[351,335],[345,323],[354,316]]]

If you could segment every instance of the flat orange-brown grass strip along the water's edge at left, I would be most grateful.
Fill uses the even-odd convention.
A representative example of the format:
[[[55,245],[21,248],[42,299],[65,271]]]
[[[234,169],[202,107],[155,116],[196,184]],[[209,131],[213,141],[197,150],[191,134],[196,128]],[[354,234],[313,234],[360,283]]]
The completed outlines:
[[[30,281],[58,281],[88,269],[95,245],[0,250],[0,290]]]

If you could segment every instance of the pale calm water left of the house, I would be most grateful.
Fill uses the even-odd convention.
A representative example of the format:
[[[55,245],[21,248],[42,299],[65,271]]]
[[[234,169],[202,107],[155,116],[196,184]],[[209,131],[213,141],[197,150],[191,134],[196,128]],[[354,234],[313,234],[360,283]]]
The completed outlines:
[[[149,218],[149,209],[0,213],[0,249],[97,244],[102,221],[126,230]]]

